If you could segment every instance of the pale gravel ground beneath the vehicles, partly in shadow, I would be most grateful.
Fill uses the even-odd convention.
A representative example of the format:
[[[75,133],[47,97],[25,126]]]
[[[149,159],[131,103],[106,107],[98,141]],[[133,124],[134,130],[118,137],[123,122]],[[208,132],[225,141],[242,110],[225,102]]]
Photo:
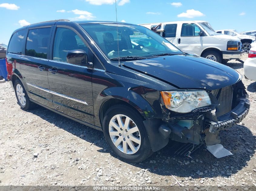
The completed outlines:
[[[243,64],[229,61],[227,65],[243,75]],[[256,186],[256,82],[245,78],[243,82],[251,109],[242,123],[221,133],[222,145],[233,155],[217,159],[202,147],[191,159],[175,155],[177,144],[169,142],[139,164],[115,157],[100,131],[43,107],[22,110],[10,84],[0,84],[0,185],[174,186],[176,178],[194,190],[199,186],[252,190]]]

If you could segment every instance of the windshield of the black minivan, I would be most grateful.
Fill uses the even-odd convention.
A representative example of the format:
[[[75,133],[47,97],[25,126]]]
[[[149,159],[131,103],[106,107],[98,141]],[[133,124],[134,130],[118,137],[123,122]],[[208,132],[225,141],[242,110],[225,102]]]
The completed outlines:
[[[120,57],[183,54],[181,50],[152,30],[129,24],[81,24],[109,59]],[[118,33],[117,33],[118,30]],[[118,48],[119,47],[119,48]]]

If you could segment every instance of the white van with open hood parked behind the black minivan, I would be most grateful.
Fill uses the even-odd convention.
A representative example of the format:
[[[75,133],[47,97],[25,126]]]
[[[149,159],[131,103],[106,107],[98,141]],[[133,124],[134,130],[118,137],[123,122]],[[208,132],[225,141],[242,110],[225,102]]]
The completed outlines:
[[[140,25],[151,29],[158,24]],[[238,38],[216,33],[207,21],[165,22],[157,28],[157,33],[185,52],[216,62],[240,59],[243,53]]]

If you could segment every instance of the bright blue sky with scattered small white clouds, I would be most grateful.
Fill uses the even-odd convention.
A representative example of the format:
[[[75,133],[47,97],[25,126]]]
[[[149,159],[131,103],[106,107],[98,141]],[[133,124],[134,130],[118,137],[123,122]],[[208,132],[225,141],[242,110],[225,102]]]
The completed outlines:
[[[256,30],[256,1],[116,0],[118,21],[209,21],[215,30]],[[254,9],[254,11],[253,11]],[[115,21],[115,0],[0,0],[0,43],[22,25],[55,19]]]

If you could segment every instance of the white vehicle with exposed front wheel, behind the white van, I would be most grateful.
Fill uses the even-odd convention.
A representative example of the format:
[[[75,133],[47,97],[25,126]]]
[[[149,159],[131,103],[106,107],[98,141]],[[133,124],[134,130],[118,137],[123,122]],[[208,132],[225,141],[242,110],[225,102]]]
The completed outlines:
[[[216,30],[217,33],[226,34],[238,37],[242,43],[242,49],[244,53],[248,53],[251,48],[251,42],[256,40],[254,36],[246,35],[246,34],[239,34],[236,30],[233,29],[226,29],[226,30]]]

